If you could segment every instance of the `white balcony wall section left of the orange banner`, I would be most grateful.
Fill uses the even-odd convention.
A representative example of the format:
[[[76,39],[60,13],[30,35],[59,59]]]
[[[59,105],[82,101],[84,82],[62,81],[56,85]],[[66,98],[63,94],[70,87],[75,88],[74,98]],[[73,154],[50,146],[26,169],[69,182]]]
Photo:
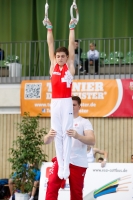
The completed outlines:
[[[20,114],[20,84],[0,84],[0,114]]]

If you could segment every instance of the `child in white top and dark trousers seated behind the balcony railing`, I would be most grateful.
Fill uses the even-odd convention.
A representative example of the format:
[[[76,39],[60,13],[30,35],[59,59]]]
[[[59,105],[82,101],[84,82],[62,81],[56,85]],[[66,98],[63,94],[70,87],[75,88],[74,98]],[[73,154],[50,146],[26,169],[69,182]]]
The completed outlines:
[[[85,62],[85,69],[87,73],[88,73],[89,66],[94,65],[95,74],[98,74],[99,52],[95,48],[96,48],[96,44],[90,43],[90,50],[87,52],[88,60]]]

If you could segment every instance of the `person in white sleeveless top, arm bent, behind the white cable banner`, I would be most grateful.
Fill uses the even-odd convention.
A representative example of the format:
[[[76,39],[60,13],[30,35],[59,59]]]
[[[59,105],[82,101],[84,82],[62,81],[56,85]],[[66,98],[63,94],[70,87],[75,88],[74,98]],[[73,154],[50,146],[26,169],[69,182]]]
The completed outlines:
[[[88,163],[93,163],[95,162],[96,154],[104,155],[104,159],[101,162],[101,167],[105,167],[107,163],[107,158],[108,158],[108,153],[104,150],[100,150],[98,148],[93,148],[90,145],[87,147],[87,159]]]

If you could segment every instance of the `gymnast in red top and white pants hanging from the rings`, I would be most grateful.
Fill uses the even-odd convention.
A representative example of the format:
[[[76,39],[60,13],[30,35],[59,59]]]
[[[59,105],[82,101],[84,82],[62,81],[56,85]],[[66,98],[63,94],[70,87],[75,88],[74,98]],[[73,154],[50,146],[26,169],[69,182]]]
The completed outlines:
[[[77,10],[76,10],[77,12]],[[67,179],[71,152],[71,137],[67,131],[73,127],[72,108],[72,80],[75,74],[74,67],[74,42],[75,23],[70,21],[69,47],[59,47],[54,53],[54,38],[52,24],[47,19],[47,43],[49,58],[51,61],[50,75],[52,86],[51,99],[51,128],[56,131],[55,148],[59,164],[58,176],[60,179]]]

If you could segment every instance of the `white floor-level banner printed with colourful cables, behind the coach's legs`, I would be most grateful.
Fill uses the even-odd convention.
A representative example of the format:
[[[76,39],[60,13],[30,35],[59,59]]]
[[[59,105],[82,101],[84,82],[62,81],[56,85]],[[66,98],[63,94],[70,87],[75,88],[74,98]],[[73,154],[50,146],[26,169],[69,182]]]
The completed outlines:
[[[42,163],[39,200],[45,199],[52,165],[52,162]],[[84,179],[83,200],[132,200],[132,169],[132,163],[107,163],[104,168],[101,167],[101,163],[89,163]],[[70,185],[67,179],[64,189],[58,192],[58,200],[70,199]]]

